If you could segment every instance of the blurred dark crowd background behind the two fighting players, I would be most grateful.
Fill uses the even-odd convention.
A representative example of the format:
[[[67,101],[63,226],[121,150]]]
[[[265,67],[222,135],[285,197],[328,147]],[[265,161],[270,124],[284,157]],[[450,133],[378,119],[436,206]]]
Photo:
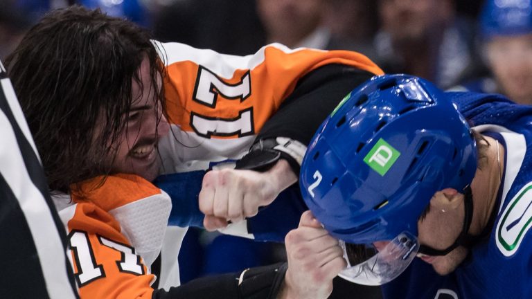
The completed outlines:
[[[530,0],[0,0],[0,59],[46,11],[75,4],[130,19],[163,42],[233,55],[271,42],[347,49],[387,73],[532,103]],[[191,228],[181,280],[283,260],[282,248]]]

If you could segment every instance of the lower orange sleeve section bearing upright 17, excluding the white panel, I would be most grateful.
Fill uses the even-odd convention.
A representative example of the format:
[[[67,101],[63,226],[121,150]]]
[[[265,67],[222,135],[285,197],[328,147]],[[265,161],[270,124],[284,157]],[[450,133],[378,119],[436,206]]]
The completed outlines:
[[[68,226],[81,298],[151,298],[154,275],[107,212],[93,203],[78,203]]]

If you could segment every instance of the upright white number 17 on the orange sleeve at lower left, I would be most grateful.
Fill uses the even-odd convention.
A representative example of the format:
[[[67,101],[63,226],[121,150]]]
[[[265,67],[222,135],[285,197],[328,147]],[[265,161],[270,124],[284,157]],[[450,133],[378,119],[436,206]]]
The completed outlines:
[[[116,261],[118,270],[134,275],[143,275],[144,268],[141,264],[141,257],[135,254],[134,248],[125,244],[111,241],[105,237],[98,236],[101,245],[114,249],[121,253],[121,260]],[[69,236],[70,247],[72,248],[74,261],[76,262],[76,280],[80,287],[105,277],[103,265],[96,264],[94,250],[89,241],[89,236],[82,230],[72,230]]]

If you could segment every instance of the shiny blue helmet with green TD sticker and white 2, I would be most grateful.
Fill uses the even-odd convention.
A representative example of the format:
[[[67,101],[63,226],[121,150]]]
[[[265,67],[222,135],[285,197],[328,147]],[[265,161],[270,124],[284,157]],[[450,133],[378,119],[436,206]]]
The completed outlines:
[[[470,127],[450,96],[410,75],[373,77],[323,122],[303,158],[303,199],[348,243],[417,235],[438,190],[468,186],[477,168]]]

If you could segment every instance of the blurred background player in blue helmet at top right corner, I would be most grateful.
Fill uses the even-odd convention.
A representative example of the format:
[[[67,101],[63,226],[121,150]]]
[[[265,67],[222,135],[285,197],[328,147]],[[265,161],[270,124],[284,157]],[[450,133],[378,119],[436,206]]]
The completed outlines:
[[[502,93],[532,104],[532,1],[487,0],[479,18],[490,77],[465,82],[468,91]]]

